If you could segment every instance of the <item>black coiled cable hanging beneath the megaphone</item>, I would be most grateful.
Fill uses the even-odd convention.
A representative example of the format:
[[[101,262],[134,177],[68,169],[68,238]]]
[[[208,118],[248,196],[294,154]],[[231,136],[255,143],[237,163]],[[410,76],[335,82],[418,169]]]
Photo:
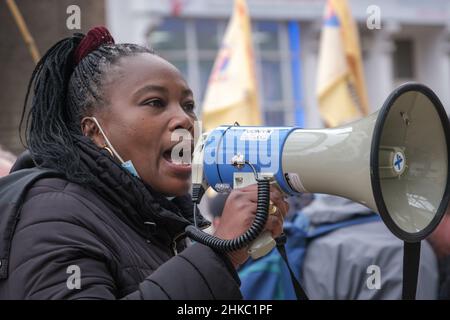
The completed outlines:
[[[253,166],[252,166],[252,169]],[[266,179],[257,179],[258,184],[258,205],[256,207],[256,216],[250,228],[241,236],[224,240],[207,234],[195,226],[187,226],[185,231],[192,240],[200,242],[208,247],[220,251],[230,252],[242,249],[255,240],[264,229],[268,219],[269,201],[270,201],[270,181]]]

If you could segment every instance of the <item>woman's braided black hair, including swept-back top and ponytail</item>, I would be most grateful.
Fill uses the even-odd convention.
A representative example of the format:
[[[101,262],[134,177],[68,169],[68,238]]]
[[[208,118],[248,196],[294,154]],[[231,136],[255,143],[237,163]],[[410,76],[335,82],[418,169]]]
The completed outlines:
[[[139,53],[154,54],[135,44],[104,44],[74,65],[74,51],[83,38],[75,34],[51,47],[34,69],[28,84],[20,120],[25,139],[37,166],[52,168],[70,181],[85,184],[91,173],[80,165],[75,137],[81,136],[81,119],[105,106],[103,81],[119,58]],[[33,85],[34,84],[34,85]],[[33,88],[33,100],[27,113]],[[23,144],[22,136],[21,141]]]

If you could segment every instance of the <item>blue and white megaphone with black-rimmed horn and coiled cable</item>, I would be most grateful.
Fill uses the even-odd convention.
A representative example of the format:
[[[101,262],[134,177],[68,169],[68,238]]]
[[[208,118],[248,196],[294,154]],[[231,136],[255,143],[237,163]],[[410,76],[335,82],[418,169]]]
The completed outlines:
[[[333,194],[378,212],[405,242],[404,263],[414,264],[420,241],[439,224],[449,202],[449,133],[438,97],[417,83],[400,86],[379,111],[338,128],[218,127],[194,149],[193,199],[199,201],[208,186],[221,192],[258,183],[259,224],[234,240],[192,228],[188,234],[219,250],[249,246],[253,258],[267,254],[275,242],[260,232],[268,186],[276,183],[286,195]]]

